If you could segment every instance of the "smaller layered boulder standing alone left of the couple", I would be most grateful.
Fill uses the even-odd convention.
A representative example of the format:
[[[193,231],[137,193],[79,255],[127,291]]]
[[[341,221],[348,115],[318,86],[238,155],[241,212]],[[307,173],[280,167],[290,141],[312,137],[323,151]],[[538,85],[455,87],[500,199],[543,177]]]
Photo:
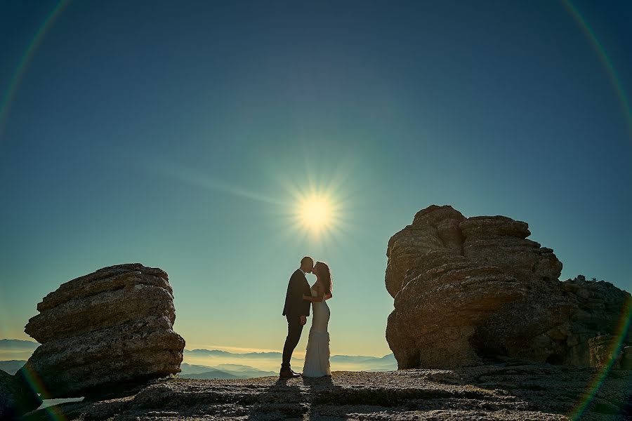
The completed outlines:
[[[63,283],[37,305],[25,332],[41,342],[16,375],[45,398],[98,394],[180,372],[185,341],[169,276],[139,263]]]

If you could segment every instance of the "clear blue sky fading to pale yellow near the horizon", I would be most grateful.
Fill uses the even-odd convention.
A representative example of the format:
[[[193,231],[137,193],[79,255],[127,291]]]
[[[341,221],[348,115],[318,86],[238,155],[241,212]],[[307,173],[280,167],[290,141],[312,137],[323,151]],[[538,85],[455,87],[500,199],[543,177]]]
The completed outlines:
[[[632,290],[629,4],[572,3],[621,95],[556,1],[71,1],[15,79],[56,4],[0,2],[0,337],[142,262],[187,348],[277,350],[308,254],[332,352],[387,354],[386,244],[431,204],[528,222],[562,280]],[[292,227],[297,189],[340,207],[329,235]]]

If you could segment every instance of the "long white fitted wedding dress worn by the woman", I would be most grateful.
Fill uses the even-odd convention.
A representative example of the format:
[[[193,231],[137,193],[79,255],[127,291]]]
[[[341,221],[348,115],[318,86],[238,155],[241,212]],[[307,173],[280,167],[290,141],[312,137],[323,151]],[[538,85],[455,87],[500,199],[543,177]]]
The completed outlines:
[[[312,297],[318,293],[310,288]],[[305,364],[303,365],[303,377],[322,377],[331,375],[329,367],[329,306],[325,300],[312,302],[312,327],[308,337],[308,345],[305,350]]]

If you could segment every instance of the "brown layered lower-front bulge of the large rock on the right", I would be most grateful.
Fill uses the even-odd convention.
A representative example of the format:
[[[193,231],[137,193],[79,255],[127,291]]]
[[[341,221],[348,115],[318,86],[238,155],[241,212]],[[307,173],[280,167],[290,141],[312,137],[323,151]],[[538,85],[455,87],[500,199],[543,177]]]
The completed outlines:
[[[468,342],[476,326],[524,293],[515,278],[498,268],[439,250],[416,260],[404,279],[387,324],[400,368],[478,361]]]

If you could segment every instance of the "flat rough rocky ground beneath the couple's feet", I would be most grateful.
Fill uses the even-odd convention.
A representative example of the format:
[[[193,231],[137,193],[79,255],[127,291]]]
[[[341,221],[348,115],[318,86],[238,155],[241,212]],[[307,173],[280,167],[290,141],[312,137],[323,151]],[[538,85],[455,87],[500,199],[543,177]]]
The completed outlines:
[[[572,420],[598,370],[496,361],[320,379],[165,377],[26,420]],[[632,371],[612,370],[581,420],[632,420]]]

